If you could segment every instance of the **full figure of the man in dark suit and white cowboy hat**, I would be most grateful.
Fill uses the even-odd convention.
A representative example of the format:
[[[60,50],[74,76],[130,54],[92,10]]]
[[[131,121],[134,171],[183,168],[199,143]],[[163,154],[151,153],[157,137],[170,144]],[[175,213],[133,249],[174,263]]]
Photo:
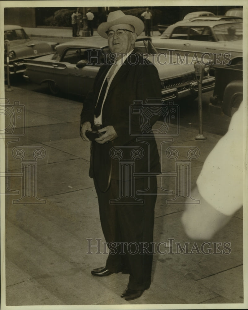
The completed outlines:
[[[139,298],[151,283],[156,175],[160,173],[159,153],[151,131],[159,112],[154,112],[152,105],[144,106],[149,98],[161,99],[159,75],[153,64],[133,52],[143,29],[139,18],[122,11],[109,13],[107,22],[99,25],[98,34],[108,40],[115,64],[99,69],[81,113],[83,140],[89,141],[87,131],[96,125],[103,134],[92,142],[89,175],[94,179],[109,255],[106,265],[91,273],[98,277],[129,273],[128,287],[121,295],[126,300]],[[130,112],[135,101],[143,104],[137,106],[140,113],[137,109],[136,113]],[[143,128],[142,107],[146,113],[150,108],[149,135]],[[128,164],[126,170],[120,169],[118,159],[127,163],[131,160],[139,176],[133,177]],[[148,177],[149,173],[152,176]],[[146,194],[137,192],[142,190]]]

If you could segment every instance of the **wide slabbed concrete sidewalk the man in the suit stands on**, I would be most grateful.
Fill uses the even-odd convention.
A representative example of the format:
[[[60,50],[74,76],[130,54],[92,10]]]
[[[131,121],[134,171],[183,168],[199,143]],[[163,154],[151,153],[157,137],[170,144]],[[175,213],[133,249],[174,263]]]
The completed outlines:
[[[127,274],[97,278],[90,273],[93,268],[104,266],[107,254],[96,254],[97,248],[90,248],[87,241],[92,239],[91,244],[97,245],[96,239],[104,238],[94,184],[88,177],[89,143],[79,136],[82,104],[16,87],[5,96],[12,105],[16,100],[24,105],[26,121],[25,128],[23,122],[16,123],[14,133],[6,139],[8,306],[61,305],[64,309],[65,305],[116,305],[117,309],[118,305],[141,308],[154,304],[156,308],[162,304],[160,308],[168,308],[166,305],[196,303],[204,304],[198,308],[207,308],[205,304],[216,303],[217,308],[222,303],[243,303],[242,210],[209,240],[211,246],[204,249],[211,248],[211,254],[204,254],[191,251],[193,245],[201,249],[202,242],[194,244],[181,225],[184,198],[179,197],[175,204],[172,200],[176,198],[176,159],[168,158],[166,150],[199,149],[199,157],[190,160],[180,151],[179,159],[190,164],[193,188],[220,135],[208,131],[207,140],[195,140],[197,129],[180,126],[176,135],[178,127],[170,124],[170,141],[164,137],[156,139],[162,170],[172,173],[171,177],[158,177],[155,207],[154,241],[166,245],[162,243],[160,252],[154,255],[150,289],[139,299],[127,302],[120,298],[128,283]],[[162,125],[157,122],[154,129]],[[37,179],[33,180],[37,181],[37,188],[32,188],[32,182],[24,186],[21,175],[27,163],[33,171],[37,170]],[[26,175],[26,180],[29,177]],[[32,203],[28,203],[30,193],[23,190],[27,187],[35,193]],[[171,243],[169,239],[173,239]],[[191,254],[180,253],[176,242],[181,246],[188,244]],[[230,242],[230,253],[224,253],[224,242]],[[219,244],[219,254],[213,254]]]

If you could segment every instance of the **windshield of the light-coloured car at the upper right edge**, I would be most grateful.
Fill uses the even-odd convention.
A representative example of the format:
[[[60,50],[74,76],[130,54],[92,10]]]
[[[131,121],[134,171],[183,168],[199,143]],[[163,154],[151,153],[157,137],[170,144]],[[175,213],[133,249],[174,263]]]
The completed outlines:
[[[242,23],[221,24],[213,27],[217,41],[233,41],[243,38]]]

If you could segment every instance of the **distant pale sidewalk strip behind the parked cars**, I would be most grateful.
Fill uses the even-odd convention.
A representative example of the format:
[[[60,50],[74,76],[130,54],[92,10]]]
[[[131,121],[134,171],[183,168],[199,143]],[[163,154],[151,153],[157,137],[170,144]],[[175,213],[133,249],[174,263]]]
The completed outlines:
[[[32,37],[42,37],[42,38],[68,38],[68,39],[75,39],[72,37],[72,29],[67,28],[58,28],[58,27],[54,27],[54,28],[28,28],[28,27],[24,27],[25,32],[28,34],[28,36]],[[82,29],[80,30],[80,37],[78,37],[78,39],[85,39],[88,37],[81,37],[82,35]],[[97,30],[94,29],[94,36],[98,36]],[[141,36],[144,36],[145,33],[142,32]],[[158,36],[160,35],[159,31],[153,31],[151,32],[152,36]]]

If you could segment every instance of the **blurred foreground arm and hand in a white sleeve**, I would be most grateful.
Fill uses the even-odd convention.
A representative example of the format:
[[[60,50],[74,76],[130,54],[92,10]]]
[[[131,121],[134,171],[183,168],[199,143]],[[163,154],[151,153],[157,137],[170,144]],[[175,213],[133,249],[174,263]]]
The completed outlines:
[[[233,114],[228,132],[206,158],[191,197],[199,203],[185,204],[182,223],[194,240],[209,240],[243,204],[243,158],[247,158],[247,105]],[[244,152],[244,154],[243,154]],[[246,181],[247,182],[247,181]]]

